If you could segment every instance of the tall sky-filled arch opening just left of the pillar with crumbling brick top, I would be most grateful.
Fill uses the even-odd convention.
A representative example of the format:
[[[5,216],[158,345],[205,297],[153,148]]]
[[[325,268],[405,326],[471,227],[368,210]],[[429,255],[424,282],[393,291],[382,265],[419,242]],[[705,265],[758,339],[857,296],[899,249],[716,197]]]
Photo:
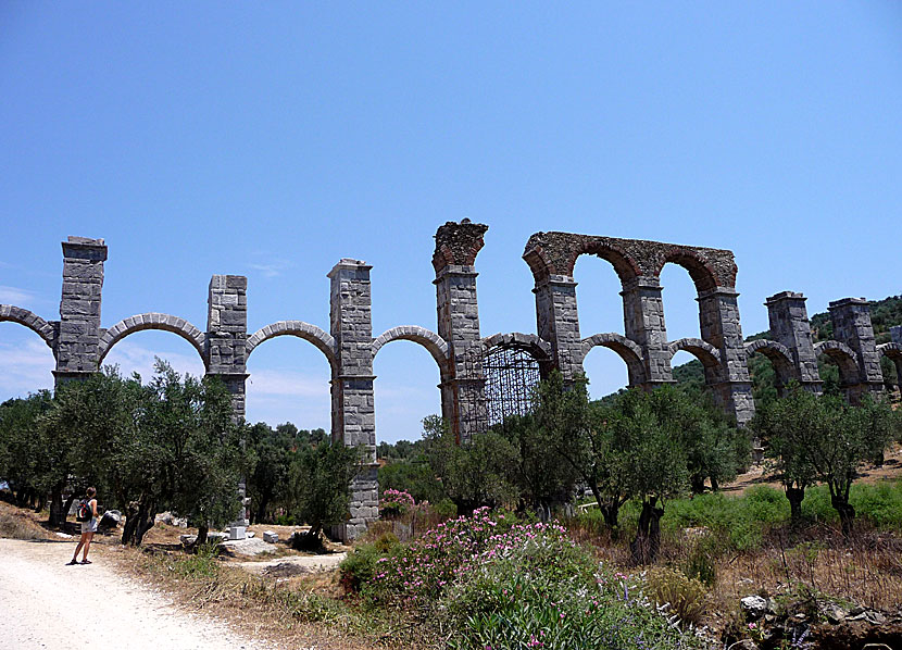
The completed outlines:
[[[378,340],[378,339],[377,339]],[[399,342],[400,341],[400,342]],[[441,373],[436,350],[422,340],[398,337],[386,340],[373,360],[376,443],[415,442],[423,418],[441,414]]]

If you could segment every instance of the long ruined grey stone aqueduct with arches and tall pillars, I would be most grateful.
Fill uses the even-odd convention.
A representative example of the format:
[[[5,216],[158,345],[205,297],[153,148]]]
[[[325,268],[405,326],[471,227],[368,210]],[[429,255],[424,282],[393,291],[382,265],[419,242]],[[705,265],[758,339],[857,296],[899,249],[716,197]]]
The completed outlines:
[[[245,414],[247,360],[253,350],[277,336],[296,336],[325,354],[331,368],[333,438],[363,445],[371,463],[352,485],[351,518],[346,538],[356,537],[378,516],[375,465],[373,359],[386,343],[404,339],[422,345],[439,368],[442,415],[463,441],[487,425],[484,362],[496,349],[522,350],[542,372],[556,367],[565,378],[582,370],[594,346],[616,352],[628,368],[629,385],[651,388],[673,382],[671,359],[679,350],[698,358],[715,399],[740,424],[753,412],[747,359],[760,352],[774,365],[778,382],[797,380],[820,390],[817,358],[834,360],[852,401],[882,387],[880,357],[894,363],[902,377],[902,327],[893,342],[875,345],[867,302],[847,298],[831,302],[835,340],[813,343],[801,293],[784,291],[767,299],[772,339],[744,342],[736,291],[737,267],[728,250],[676,246],[656,241],[592,237],[568,233],[537,233],[529,238],[524,260],[535,277],[537,334],[483,337],[476,298],[476,255],[488,226],[449,222],[436,233],[438,327],[392,327],[373,337],[369,270],[364,262],[342,259],[329,272],[330,327],[303,321],[279,321],[258,332],[247,330],[247,278],[214,275],[208,297],[206,330],[177,316],[143,313],[109,328],[101,327],[100,307],[107,246],[102,239],[70,237],[63,242],[63,287],[60,320],[45,321],[28,310],[0,305],[0,321],[20,323],[40,336],[57,361],[55,380],[85,377],[100,367],[110,349],[129,334],[163,329],[186,339],[201,357],[208,375],[223,379],[231,391],[236,416]],[[610,262],[623,285],[624,334],[579,330],[574,265],[581,254]],[[698,289],[701,338],[671,341],[664,325],[659,280],[663,266],[688,270]]]

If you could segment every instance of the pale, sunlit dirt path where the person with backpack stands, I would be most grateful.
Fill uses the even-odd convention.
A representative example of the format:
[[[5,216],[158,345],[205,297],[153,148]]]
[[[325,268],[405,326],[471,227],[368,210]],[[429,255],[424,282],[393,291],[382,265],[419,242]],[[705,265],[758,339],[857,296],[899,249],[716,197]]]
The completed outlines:
[[[176,608],[160,592],[104,565],[66,566],[71,542],[0,539],[0,646],[10,649],[271,650],[224,623]],[[87,632],[83,614],[93,622]]]

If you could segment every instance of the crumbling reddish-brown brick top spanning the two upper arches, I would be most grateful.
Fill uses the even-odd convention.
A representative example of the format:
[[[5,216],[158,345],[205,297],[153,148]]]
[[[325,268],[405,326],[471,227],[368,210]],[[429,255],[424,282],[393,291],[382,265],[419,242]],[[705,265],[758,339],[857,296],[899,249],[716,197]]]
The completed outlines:
[[[732,251],[725,249],[573,233],[536,233],[527,241],[523,259],[536,279],[541,279],[549,275],[573,276],[576,260],[584,253],[611,262],[624,284],[640,276],[656,278],[664,264],[673,262],[689,271],[699,291],[736,286],[736,262]]]

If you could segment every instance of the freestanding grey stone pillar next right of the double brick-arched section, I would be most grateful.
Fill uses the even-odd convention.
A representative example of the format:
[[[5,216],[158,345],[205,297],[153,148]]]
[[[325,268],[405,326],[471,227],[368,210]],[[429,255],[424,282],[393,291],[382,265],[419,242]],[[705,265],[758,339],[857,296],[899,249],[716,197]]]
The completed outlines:
[[[817,370],[805,300],[807,299],[801,293],[782,291],[771,296],[764,304],[771,322],[771,338],[786,346],[792,353],[795,368],[793,378],[806,390],[819,395],[823,383]],[[779,375],[777,378],[779,380]]]

